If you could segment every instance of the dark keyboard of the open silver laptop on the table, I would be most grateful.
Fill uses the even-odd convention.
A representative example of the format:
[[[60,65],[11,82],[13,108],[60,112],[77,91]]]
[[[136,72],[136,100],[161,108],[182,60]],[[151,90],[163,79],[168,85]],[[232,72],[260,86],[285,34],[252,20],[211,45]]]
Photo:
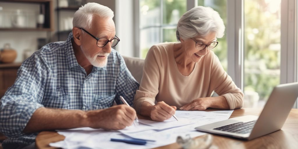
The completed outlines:
[[[220,131],[238,133],[238,134],[246,134],[246,133],[252,132],[252,128],[254,128],[254,124],[256,122],[257,120],[249,121],[249,122],[236,122],[233,124],[224,125],[214,129],[220,130]]]

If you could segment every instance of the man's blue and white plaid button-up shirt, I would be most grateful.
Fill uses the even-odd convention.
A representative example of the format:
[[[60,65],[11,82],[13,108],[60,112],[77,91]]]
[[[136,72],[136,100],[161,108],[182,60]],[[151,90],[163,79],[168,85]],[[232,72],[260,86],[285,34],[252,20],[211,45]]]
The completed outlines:
[[[128,71],[122,56],[112,49],[107,65],[93,66],[87,75],[75,58],[72,33],[65,42],[49,43],[25,60],[18,77],[0,100],[0,131],[8,139],[4,148],[16,148],[35,141],[35,134],[22,133],[40,107],[84,111],[122,104],[123,96],[133,104],[139,84]]]

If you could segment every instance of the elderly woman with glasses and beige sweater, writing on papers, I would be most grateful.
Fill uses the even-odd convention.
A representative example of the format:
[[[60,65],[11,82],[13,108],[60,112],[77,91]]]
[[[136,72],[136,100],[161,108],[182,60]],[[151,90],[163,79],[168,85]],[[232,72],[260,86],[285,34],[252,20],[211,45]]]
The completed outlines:
[[[180,42],[150,48],[134,99],[136,112],[164,121],[177,108],[241,108],[243,93],[212,52],[224,29],[223,20],[210,7],[198,6],[187,11],[177,24]],[[210,97],[212,91],[219,96]]]

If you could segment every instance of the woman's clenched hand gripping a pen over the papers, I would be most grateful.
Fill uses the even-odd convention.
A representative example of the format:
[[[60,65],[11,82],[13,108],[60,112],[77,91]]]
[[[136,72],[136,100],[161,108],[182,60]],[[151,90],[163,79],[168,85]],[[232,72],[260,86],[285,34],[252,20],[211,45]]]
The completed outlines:
[[[172,117],[176,109],[176,106],[170,106],[161,101],[152,106],[150,117],[154,121],[162,122]]]

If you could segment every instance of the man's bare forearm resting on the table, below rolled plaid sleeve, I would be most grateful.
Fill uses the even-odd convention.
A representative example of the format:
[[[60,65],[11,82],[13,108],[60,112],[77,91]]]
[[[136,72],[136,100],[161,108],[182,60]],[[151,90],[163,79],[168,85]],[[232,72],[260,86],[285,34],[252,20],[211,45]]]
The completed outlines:
[[[38,108],[30,118],[23,132],[26,134],[56,129],[88,127],[86,112],[54,108]]]

